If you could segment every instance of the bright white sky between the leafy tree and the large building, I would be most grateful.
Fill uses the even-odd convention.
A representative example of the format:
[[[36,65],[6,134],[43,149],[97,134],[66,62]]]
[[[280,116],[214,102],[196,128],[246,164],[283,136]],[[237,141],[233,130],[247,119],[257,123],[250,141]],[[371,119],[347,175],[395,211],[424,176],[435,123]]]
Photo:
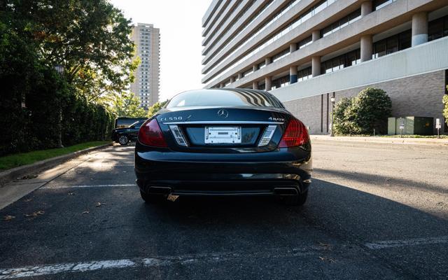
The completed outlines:
[[[137,22],[160,29],[160,101],[204,87],[202,16],[211,0],[110,0]]]

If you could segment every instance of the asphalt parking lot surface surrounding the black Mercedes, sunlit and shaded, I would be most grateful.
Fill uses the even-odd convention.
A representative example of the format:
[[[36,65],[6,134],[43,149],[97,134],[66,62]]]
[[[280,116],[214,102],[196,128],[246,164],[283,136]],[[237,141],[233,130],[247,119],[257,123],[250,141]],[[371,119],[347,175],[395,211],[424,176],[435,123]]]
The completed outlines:
[[[448,279],[448,148],[314,143],[302,209],[148,205],[113,146],[0,210],[0,279]]]

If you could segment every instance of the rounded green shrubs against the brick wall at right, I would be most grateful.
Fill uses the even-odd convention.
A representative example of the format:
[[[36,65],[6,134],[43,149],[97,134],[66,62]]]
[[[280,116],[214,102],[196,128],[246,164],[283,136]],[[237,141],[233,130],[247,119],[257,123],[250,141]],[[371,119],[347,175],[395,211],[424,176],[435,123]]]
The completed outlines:
[[[352,99],[344,99],[335,107],[337,134],[385,134],[392,102],[384,90],[367,87]],[[336,117],[337,116],[337,117]]]

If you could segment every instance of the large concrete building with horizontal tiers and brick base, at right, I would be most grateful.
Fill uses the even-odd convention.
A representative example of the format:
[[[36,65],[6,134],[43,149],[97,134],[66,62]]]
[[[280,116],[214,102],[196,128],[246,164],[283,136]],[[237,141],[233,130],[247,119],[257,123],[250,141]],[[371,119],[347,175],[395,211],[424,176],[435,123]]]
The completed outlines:
[[[311,133],[367,86],[395,117],[443,120],[448,0],[213,0],[202,26],[205,87],[269,90]]]

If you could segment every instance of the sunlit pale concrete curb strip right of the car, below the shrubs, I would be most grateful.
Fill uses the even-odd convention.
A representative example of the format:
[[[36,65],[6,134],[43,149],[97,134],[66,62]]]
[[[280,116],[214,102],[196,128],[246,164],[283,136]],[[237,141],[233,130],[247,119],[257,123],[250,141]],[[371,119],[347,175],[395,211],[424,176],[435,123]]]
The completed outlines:
[[[391,138],[391,139],[367,139],[365,137],[313,137],[310,136],[311,141],[328,141],[328,142],[357,142],[364,144],[402,144],[402,145],[424,145],[424,146],[448,146],[447,139],[440,139],[441,141],[415,140],[407,138]]]

